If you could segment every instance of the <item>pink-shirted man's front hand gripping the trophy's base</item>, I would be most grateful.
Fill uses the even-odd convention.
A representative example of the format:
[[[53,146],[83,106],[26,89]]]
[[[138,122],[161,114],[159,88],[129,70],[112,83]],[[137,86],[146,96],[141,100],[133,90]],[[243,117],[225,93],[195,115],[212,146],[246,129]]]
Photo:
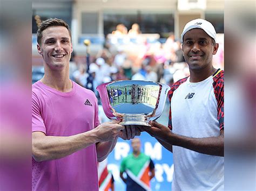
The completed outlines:
[[[94,129],[96,132],[96,137],[99,138],[100,142],[106,142],[109,140],[116,139],[118,136],[122,135],[122,130],[124,130],[124,126],[118,124],[120,121],[112,120],[110,122],[105,122],[97,126]]]

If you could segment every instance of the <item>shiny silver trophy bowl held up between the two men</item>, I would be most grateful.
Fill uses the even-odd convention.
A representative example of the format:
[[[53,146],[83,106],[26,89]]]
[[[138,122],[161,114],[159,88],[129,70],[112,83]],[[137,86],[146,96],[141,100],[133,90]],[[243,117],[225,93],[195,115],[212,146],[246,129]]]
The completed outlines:
[[[150,126],[162,114],[170,87],[163,83],[122,80],[97,87],[103,110],[109,119],[121,119],[121,125]]]

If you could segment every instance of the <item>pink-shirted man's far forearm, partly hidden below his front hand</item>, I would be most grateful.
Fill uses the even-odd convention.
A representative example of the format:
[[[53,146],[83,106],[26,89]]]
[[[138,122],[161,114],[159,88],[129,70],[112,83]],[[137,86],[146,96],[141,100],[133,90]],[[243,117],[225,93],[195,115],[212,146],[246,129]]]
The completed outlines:
[[[109,153],[113,150],[114,146],[116,146],[116,143],[117,138],[109,142],[97,143],[96,149],[98,162],[101,162],[107,158],[107,155],[109,155]]]

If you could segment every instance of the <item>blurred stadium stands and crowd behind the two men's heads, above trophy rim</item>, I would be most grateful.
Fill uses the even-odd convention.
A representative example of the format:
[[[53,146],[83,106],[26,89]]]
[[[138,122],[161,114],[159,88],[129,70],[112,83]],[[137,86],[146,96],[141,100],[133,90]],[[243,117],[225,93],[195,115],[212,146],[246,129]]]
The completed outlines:
[[[141,79],[171,85],[189,75],[180,34],[195,18],[214,25],[220,44],[214,66],[224,68],[224,1],[33,0],[33,82],[43,75],[42,58],[36,48],[37,26],[54,17],[64,19],[71,27],[71,79],[86,87],[90,69],[89,73],[95,73],[94,91],[99,84],[113,80]],[[86,39],[91,42],[89,68]]]

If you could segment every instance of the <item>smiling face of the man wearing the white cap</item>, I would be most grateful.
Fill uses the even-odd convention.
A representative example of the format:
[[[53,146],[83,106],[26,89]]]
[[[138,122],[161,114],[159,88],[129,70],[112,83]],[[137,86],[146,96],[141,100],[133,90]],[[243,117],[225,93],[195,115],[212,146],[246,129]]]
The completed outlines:
[[[212,56],[217,53],[218,43],[202,29],[191,29],[184,34],[182,51],[192,70],[212,67]]]

